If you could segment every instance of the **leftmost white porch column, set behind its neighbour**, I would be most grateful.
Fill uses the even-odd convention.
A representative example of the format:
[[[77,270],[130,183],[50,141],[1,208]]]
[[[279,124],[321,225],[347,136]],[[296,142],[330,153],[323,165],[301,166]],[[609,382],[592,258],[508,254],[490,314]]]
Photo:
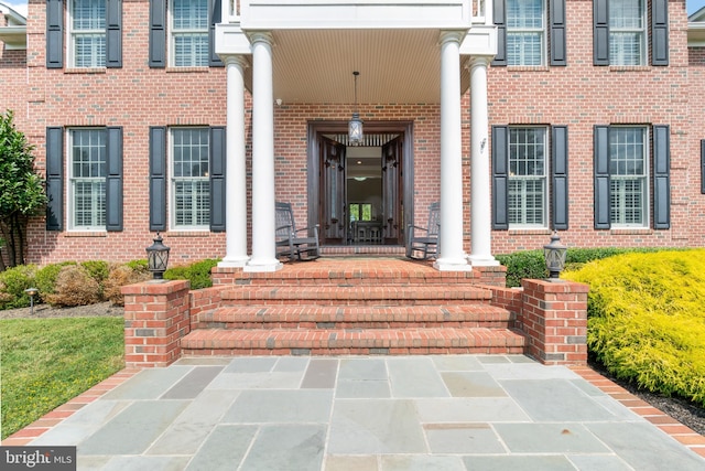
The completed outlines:
[[[247,255],[247,173],[245,164],[245,67],[239,55],[225,57],[227,73],[226,256],[219,267],[243,267]]]

